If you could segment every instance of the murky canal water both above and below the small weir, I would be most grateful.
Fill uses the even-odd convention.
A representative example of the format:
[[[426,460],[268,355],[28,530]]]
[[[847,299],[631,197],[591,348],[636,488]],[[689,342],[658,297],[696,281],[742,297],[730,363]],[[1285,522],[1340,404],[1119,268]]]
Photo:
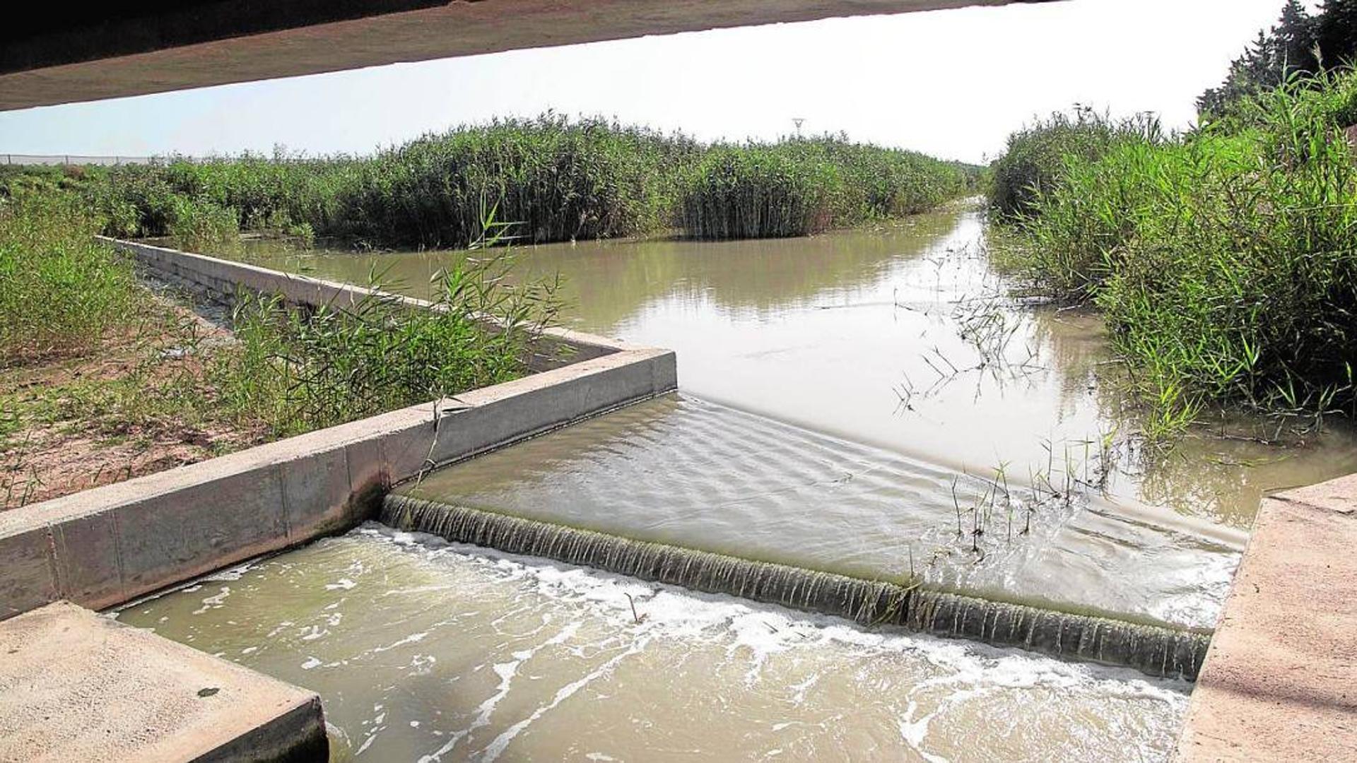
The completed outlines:
[[[464,257],[220,254],[415,296]],[[1096,319],[1014,300],[974,210],[518,257],[562,274],[570,326],[676,349],[681,391],[426,497],[1209,626],[1259,496],[1357,471],[1349,433],[1248,421],[1144,458]],[[376,524],[119,619],[319,691],[338,755],[375,760],[1163,759],[1190,690]]]

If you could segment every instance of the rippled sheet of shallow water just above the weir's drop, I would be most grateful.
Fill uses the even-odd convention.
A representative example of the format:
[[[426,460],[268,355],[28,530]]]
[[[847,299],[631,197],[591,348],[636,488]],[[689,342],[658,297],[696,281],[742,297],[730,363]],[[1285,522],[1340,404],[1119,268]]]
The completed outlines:
[[[955,481],[955,482],[954,482]],[[436,471],[400,493],[866,580],[1212,627],[1243,536],[995,487],[684,394]],[[991,496],[991,498],[987,498]],[[981,532],[977,535],[977,529]]]

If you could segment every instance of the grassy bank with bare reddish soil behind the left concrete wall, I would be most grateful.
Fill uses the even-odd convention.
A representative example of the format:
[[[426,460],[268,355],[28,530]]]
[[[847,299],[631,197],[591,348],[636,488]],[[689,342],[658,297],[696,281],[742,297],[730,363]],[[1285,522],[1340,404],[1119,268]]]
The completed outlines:
[[[0,509],[100,478],[72,474],[62,453],[98,460],[133,444],[137,463],[114,467],[126,478],[160,459],[206,458],[516,379],[552,352],[540,339],[556,316],[556,284],[510,278],[506,248],[440,273],[433,310],[377,296],[301,310],[242,295],[233,337],[205,331],[95,242],[103,220],[80,189],[49,181],[0,198]],[[191,235],[235,229],[228,208],[176,202],[194,206],[175,210],[176,221],[204,209],[216,217]],[[513,228],[493,212],[480,227],[480,248]],[[111,478],[106,460],[102,478]]]

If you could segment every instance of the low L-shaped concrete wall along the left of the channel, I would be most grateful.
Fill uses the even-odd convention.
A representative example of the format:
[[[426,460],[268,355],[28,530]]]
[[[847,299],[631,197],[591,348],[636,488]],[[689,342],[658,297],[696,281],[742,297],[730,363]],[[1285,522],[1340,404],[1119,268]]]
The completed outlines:
[[[212,278],[239,277],[246,288],[282,291],[308,304],[368,292],[129,246],[157,250],[151,255],[164,267],[186,281],[202,278],[209,288]],[[600,354],[456,401],[421,403],[0,513],[0,619],[58,599],[111,607],[343,531],[365,519],[372,498],[394,482],[677,387],[670,350],[558,335]]]

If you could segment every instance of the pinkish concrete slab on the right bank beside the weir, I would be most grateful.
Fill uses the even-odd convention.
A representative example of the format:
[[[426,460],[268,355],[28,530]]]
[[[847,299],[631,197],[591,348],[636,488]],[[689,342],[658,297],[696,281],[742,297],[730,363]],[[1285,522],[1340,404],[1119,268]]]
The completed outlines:
[[[1175,759],[1357,760],[1357,475],[1263,500]]]

